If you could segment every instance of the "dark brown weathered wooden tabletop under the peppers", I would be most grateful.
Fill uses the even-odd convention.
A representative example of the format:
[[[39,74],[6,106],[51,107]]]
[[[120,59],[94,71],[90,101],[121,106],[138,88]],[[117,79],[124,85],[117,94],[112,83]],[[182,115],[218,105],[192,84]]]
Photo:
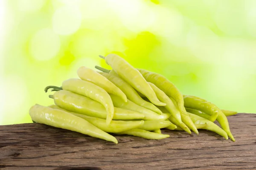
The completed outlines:
[[[118,144],[41,124],[0,126],[1,170],[256,170],[256,114],[228,117],[236,142],[207,131],[170,138],[116,136]]]

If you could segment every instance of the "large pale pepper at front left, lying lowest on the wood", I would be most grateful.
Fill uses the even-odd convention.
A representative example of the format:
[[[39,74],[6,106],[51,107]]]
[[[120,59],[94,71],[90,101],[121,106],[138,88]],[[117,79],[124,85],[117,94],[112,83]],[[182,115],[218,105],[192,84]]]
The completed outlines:
[[[118,143],[115,137],[100,130],[90,122],[65,111],[36,104],[29,109],[29,115],[37,123],[72,130],[116,144]]]

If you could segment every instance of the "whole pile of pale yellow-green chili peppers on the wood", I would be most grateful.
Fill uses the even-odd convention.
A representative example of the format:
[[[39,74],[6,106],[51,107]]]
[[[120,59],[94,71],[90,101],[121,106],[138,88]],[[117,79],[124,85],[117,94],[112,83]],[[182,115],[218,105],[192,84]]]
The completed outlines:
[[[32,106],[32,120],[116,144],[117,139],[109,133],[168,138],[161,133],[163,128],[189,134],[206,129],[235,141],[227,116],[237,112],[221,110],[198,96],[183,95],[166,77],[134,68],[116,54],[99,57],[112,70],[81,66],[77,70],[80,79],[67,79],[61,87],[47,86],[45,92],[54,91],[49,95],[54,105]]]

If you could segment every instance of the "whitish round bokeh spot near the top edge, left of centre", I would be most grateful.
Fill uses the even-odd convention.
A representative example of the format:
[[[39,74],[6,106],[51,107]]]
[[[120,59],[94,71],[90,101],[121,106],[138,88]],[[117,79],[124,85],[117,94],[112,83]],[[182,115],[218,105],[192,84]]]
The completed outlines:
[[[60,35],[70,35],[76,32],[81,25],[81,13],[76,6],[58,8],[52,16],[53,30]]]

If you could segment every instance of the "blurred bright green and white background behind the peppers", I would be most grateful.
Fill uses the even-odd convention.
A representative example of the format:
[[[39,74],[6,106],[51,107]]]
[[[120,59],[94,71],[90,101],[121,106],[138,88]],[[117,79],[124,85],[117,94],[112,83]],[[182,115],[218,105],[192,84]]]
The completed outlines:
[[[183,94],[256,113],[256,0],[2,0],[0,125],[116,53]]]

